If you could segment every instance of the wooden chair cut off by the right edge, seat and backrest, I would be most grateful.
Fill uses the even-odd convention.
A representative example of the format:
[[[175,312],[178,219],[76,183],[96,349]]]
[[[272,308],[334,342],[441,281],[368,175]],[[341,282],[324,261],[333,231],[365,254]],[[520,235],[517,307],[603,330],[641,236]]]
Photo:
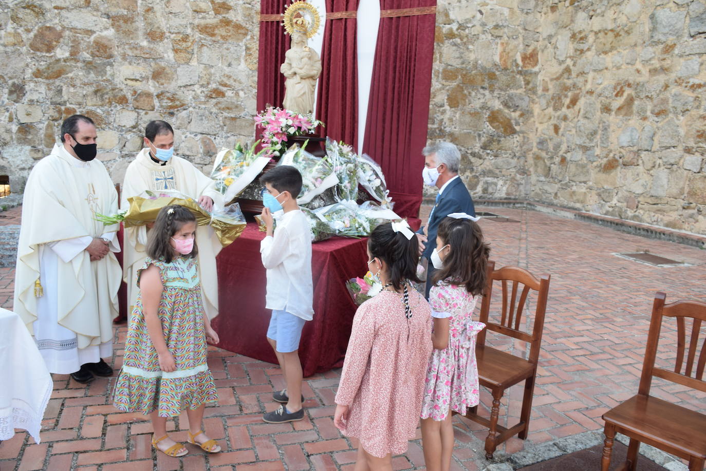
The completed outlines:
[[[665,294],[657,292],[652,305],[650,333],[647,335],[645,362],[638,394],[617,405],[603,415],[606,435],[601,470],[608,471],[616,432],[630,437],[628,457],[620,470],[637,469],[640,443],[647,443],[668,453],[689,460],[690,471],[702,471],[706,463],[706,415],[650,395],[652,377],[681,384],[706,392],[704,366],[706,339],[699,343],[703,322],[706,322],[706,303],[677,301],[664,305]],[[659,332],[664,317],[676,321],[677,344],[674,370],[654,365],[657,357]],[[690,341],[686,352],[687,323],[691,323]],[[700,354],[699,354],[700,350]],[[684,357],[686,353],[686,365]],[[698,357],[697,357],[698,354]],[[683,367],[683,368],[682,368]],[[683,372],[682,372],[683,369]],[[693,375],[693,377],[692,377]]]

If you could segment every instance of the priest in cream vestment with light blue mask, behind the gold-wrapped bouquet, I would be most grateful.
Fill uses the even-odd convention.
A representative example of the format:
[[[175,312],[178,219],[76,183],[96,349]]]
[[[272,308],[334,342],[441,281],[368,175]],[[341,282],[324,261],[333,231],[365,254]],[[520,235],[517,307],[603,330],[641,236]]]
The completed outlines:
[[[197,200],[205,210],[213,210],[214,205],[222,208],[222,195],[215,189],[215,181],[188,160],[174,155],[174,130],[167,121],[150,121],[145,128],[144,142],[145,148],[125,172],[121,209],[129,207],[128,198],[145,190],[177,190]],[[123,277],[128,287],[130,311],[137,302],[137,270],[145,263],[145,246],[151,226],[126,227],[124,232]],[[196,246],[203,306],[208,318],[212,319],[218,315],[216,256],[222,246],[210,226],[196,227]]]

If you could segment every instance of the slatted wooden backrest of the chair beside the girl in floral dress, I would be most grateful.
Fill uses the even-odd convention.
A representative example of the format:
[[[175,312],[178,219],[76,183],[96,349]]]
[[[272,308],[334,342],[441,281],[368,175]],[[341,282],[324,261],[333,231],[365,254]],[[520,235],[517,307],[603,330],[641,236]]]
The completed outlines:
[[[511,338],[522,340],[530,344],[528,361],[537,364],[539,360],[539,347],[542,345],[542,331],[544,330],[544,312],[546,299],[549,294],[550,275],[537,278],[529,271],[520,267],[507,266],[493,270],[488,274],[488,285],[483,295],[479,321],[486,324],[486,328],[478,334],[477,345],[485,345],[486,331],[508,335]],[[502,291],[503,309],[499,322],[491,320],[490,306],[493,300],[493,282],[499,281]],[[534,309],[532,332],[521,330],[522,313],[530,290],[537,292],[537,301]],[[519,294],[519,296],[518,296]]]

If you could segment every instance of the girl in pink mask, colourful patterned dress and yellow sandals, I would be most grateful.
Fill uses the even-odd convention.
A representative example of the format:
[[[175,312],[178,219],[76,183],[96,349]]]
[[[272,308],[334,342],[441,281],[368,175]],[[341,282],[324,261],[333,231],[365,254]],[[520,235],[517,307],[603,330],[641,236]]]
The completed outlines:
[[[196,266],[196,218],[179,205],[160,210],[148,258],[138,272],[137,304],[125,340],[113,403],[152,419],[152,446],[169,456],[189,451],[167,435],[167,419],[186,409],[189,443],[208,453],[220,446],[203,433],[203,409],[217,401],[206,364],[206,340],[218,342],[203,309]]]

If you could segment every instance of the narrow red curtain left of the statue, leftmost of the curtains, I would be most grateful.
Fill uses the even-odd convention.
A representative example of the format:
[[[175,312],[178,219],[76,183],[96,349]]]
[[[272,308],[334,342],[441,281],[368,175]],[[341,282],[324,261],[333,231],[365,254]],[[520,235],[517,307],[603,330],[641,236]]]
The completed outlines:
[[[285,100],[285,76],[280,73],[280,65],[289,49],[289,35],[285,35],[285,27],[281,24],[285,4],[287,0],[260,1],[258,112],[267,105],[281,107]]]

